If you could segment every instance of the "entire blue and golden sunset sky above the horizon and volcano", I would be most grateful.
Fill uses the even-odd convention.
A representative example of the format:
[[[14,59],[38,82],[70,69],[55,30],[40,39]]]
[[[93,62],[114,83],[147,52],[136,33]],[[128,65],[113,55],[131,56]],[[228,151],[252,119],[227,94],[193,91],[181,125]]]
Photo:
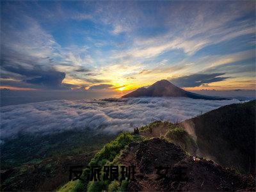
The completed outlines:
[[[1,1],[1,88],[255,90],[255,1]]]

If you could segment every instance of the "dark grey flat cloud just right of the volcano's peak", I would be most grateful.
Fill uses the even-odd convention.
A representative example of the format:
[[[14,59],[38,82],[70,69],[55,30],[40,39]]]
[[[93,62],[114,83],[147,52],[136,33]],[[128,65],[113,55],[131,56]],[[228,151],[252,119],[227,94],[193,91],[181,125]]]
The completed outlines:
[[[223,81],[228,77],[219,77],[225,75],[224,73],[213,73],[213,74],[192,74],[189,76],[182,76],[170,79],[170,81],[180,87],[195,87],[202,84],[214,83]]]

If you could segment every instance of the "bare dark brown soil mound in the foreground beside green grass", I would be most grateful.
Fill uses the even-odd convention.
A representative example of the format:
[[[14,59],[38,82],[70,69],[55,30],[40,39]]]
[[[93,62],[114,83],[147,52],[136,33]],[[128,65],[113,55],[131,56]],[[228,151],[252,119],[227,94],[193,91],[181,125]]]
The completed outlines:
[[[159,138],[131,143],[120,163],[136,166],[136,180],[129,183],[127,191],[255,191],[252,176],[237,174],[213,161],[194,161],[180,147]],[[169,168],[163,179],[156,180],[157,166]]]

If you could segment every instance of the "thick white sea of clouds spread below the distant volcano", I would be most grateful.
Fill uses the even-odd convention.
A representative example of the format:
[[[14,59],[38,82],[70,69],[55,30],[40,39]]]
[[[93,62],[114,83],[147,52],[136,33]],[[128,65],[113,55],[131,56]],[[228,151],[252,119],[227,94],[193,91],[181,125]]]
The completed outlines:
[[[155,120],[177,122],[239,100],[145,97],[116,100],[55,100],[1,108],[1,140],[19,132],[52,134],[70,129],[132,131]]]

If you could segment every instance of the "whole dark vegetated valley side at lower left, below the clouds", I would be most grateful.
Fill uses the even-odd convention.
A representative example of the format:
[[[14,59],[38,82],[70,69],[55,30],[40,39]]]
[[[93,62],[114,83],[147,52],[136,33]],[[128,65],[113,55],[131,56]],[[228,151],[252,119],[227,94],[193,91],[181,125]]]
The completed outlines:
[[[115,134],[86,129],[43,136],[19,134],[17,138],[5,140],[1,145],[1,170],[4,171],[1,190],[51,191],[59,188],[68,181],[68,164],[89,163],[94,154],[114,138]],[[79,191],[81,186],[76,186]]]

